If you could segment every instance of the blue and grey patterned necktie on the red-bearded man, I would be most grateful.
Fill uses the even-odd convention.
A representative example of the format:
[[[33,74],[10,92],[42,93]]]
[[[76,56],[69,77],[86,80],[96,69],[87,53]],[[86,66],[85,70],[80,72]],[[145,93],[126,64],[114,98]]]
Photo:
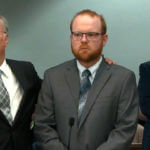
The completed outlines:
[[[88,92],[91,87],[91,82],[89,80],[90,75],[91,75],[91,72],[88,69],[82,72],[83,79],[81,80],[81,88],[80,88],[80,99],[79,99],[79,106],[78,106],[78,122],[80,122],[83,108],[85,106],[85,103],[88,97]]]

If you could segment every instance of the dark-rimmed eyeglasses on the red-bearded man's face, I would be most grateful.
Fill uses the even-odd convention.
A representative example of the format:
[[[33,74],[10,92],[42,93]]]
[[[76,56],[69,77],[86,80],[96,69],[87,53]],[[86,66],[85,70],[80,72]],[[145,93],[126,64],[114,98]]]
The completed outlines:
[[[97,41],[100,35],[103,35],[99,32],[71,32],[73,40],[80,41],[83,35],[86,36],[88,41]]]

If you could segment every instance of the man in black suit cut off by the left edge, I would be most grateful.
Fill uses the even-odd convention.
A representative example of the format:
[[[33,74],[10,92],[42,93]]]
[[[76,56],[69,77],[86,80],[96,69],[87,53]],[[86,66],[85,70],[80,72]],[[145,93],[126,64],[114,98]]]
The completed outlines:
[[[0,150],[31,150],[31,117],[41,80],[30,62],[5,58],[8,23],[0,16]]]

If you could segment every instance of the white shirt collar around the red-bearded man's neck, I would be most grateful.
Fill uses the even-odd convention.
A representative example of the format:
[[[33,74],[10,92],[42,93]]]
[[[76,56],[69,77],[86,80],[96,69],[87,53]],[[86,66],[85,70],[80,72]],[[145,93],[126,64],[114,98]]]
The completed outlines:
[[[91,66],[90,68],[85,68],[83,65],[80,64],[80,62],[77,60],[77,67],[78,67],[78,70],[79,70],[79,76],[80,76],[80,80],[82,80],[82,72],[86,69],[88,69],[90,72],[91,72],[91,76],[89,77],[90,79],[90,82],[91,84],[93,83],[94,81],[94,78],[95,78],[95,75],[96,75],[96,72],[97,72],[97,69],[99,68],[99,65],[101,64],[102,62],[102,57],[100,57],[99,61]]]

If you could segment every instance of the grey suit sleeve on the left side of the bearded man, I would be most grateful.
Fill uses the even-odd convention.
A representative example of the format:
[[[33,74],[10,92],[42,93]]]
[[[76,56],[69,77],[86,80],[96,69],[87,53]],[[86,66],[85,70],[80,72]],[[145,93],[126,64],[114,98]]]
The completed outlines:
[[[66,150],[56,131],[53,95],[47,73],[44,75],[33,120],[35,145],[38,150]]]

